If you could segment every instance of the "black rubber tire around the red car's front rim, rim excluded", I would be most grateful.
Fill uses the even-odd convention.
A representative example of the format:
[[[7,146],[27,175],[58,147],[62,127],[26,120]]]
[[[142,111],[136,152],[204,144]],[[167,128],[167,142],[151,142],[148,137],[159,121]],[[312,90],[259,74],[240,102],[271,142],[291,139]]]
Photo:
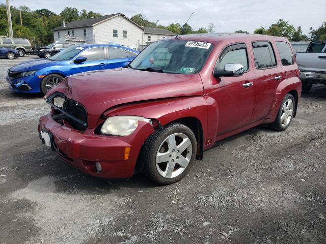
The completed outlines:
[[[159,147],[161,146],[162,142],[164,142],[169,136],[175,134],[175,133],[181,133],[185,136],[188,137],[191,141],[191,159],[189,160],[188,165],[185,167],[185,169],[177,176],[171,177],[171,178],[166,178],[158,172],[156,168],[156,155],[158,153],[158,150],[160,149]],[[152,181],[154,181],[158,185],[169,185],[172,184],[181,178],[183,178],[191,166],[194,163],[194,159],[196,156],[197,152],[197,141],[196,137],[191,129],[186,127],[185,125],[179,124],[179,123],[172,123],[167,125],[166,127],[162,128],[161,130],[155,132],[149,139],[148,142],[149,148],[147,151],[147,155],[145,156],[145,164],[144,164],[144,171],[143,173]],[[178,145],[178,142],[177,142]],[[177,151],[179,152],[179,151]],[[181,154],[182,152],[180,152]],[[183,151],[183,153],[189,153],[187,152],[187,149]],[[174,153],[175,154],[175,153]],[[190,156],[190,155],[189,155]],[[173,157],[176,157],[175,155]],[[172,157],[172,158],[173,158]],[[173,161],[173,160],[172,160]],[[176,158],[177,161],[177,158]],[[176,166],[174,166],[174,171],[178,169],[178,164],[175,163]],[[168,167],[168,165],[166,166]],[[181,167],[179,167],[181,168]],[[173,171],[173,172],[174,172]]]

